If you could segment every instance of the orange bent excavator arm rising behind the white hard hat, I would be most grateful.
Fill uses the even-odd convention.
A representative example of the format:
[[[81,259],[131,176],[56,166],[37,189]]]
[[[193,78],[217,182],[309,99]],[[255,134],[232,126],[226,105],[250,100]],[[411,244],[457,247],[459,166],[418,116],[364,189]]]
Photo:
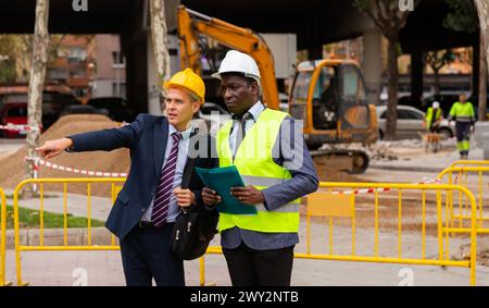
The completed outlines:
[[[212,38],[230,49],[248,53],[259,66],[264,103],[278,109],[278,89],[272,51],[266,42],[251,29],[241,28],[218,19],[210,17],[184,5],[178,7],[178,38],[181,69],[191,67],[202,75],[199,35]]]

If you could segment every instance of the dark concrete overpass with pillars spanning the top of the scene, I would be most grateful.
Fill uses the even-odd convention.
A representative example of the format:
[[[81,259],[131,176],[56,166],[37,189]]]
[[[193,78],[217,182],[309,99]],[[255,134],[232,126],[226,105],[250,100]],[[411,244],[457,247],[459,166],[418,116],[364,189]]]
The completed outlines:
[[[155,73],[149,35],[147,0],[87,0],[88,12],[76,12],[72,0],[50,0],[49,32],[70,34],[118,34],[126,56],[127,98],[139,111],[154,111]],[[35,1],[4,1],[0,10],[0,33],[26,34],[34,30]],[[201,13],[261,33],[294,33],[298,49],[310,58],[322,57],[322,46],[359,36],[364,37],[365,79],[376,93],[381,84],[381,39],[373,23],[359,12],[353,0],[166,0],[168,28],[175,30],[175,9],[183,4]],[[448,12],[443,0],[423,0],[401,32],[401,46],[413,58],[413,94],[423,87],[422,52],[432,49],[473,46],[478,54],[478,34],[467,35],[442,26]],[[477,59],[477,57],[475,57]],[[146,63],[146,65],[141,65]],[[478,72],[478,61],[474,63]],[[475,74],[477,75],[477,74]],[[476,78],[476,76],[475,76]],[[475,81],[474,83],[478,83]],[[376,95],[376,94],[375,94]]]

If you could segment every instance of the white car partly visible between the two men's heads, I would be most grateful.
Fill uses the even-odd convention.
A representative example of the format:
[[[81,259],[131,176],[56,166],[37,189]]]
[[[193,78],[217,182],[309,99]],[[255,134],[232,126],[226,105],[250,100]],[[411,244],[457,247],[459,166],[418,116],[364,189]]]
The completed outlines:
[[[225,108],[215,102],[205,102],[192,120],[192,125],[214,136],[229,119],[231,115]]]

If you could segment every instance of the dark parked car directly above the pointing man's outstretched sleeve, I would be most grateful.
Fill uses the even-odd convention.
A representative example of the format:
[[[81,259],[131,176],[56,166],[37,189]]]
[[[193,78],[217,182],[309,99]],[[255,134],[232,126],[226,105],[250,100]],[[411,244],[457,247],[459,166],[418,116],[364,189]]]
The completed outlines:
[[[133,122],[138,115],[122,97],[90,98],[87,106],[93,107],[100,114],[105,114],[115,122]]]

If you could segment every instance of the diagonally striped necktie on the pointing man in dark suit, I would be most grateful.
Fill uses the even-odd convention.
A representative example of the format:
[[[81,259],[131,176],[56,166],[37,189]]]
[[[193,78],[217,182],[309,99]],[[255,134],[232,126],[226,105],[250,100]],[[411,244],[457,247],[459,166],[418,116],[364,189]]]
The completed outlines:
[[[181,135],[179,133],[173,133],[172,138],[172,150],[170,151],[170,156],[161,172],[160,181],[158,182],[153,212],[151,214],[151,220],[156,227],[166,223],[170,199],[173,194],[173,177],[175,175],[176,161],[178,159],[178,143],[181,139]]]

